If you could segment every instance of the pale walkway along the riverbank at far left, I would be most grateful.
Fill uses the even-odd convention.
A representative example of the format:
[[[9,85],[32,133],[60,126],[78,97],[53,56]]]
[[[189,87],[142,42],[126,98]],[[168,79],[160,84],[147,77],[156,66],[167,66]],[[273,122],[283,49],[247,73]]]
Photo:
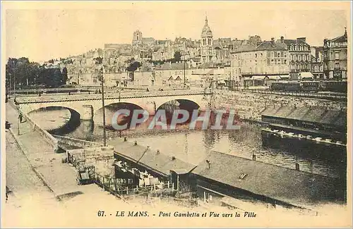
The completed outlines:
[[[62,154],[55,154],[53,147],[28,123],[20,123],[18,135],[18,112],[6,104],[6,120],[11,123],[11,134],[30,162],[33,171],[42,179],[55,196],[78,192],[76,171],[61,163]]]

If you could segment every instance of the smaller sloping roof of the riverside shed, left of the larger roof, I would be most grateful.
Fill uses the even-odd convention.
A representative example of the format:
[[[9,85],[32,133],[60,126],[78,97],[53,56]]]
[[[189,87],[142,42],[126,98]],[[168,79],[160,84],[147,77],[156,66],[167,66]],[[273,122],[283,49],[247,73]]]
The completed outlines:
[[[112,144],[111,144],[112,145]],[[152,168],[155,171],[169,175],[170,171],[184,170],[192,171],[196,166],[190,163],[181,161],[180,159],[173,159],[171,156],[167,156],[160,152],[152,150],[141,145],[134,145],[133,142],[124,142],[118,140],[114,142],[114,151],[121,156],[124,156],[131,161],[138,161],[139,164],[143,164]]]

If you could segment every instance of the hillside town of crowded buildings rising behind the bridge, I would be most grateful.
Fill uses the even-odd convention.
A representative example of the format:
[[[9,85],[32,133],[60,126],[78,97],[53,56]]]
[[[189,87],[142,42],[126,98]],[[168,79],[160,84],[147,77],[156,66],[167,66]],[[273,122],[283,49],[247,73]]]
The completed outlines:
[[[67,68],[71,85],[239,87],[270,86],[281,80],[347,80],[347,30],[323,39],[321,47],[306,37],[258,35],[233,39],[213,35],[205,18],[200,39],[159,40],[133,32],[131,44],[104,44],[85,54],[48,61],[47,68]],[[210,80],[212,78],[212,80]],[[211,82],[212,81],[212,82]]]

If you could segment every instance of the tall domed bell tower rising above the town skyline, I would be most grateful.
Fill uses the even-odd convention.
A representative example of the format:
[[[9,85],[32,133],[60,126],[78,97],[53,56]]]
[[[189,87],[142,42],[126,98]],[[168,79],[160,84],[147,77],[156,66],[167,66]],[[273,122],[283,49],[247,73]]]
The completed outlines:
[[[213,32],[208,26],[208,19],[205,19],[205,25],[201,32],[201,63],[209,63],[215,58],[213,49]]]

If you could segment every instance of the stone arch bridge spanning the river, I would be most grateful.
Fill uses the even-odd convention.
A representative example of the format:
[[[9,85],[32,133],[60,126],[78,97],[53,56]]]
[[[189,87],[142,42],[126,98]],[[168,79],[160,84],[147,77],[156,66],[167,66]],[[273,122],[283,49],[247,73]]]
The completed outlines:
[[[127,103],[140,106],[150,114],[154,114],[162,104],[178,101],[184,106],[193,105],[198,109],[207,109],[213,92],[206,90],[181,90],[162,92],[120,92],[104,94],[104,106]],[[82,120],[92,120],[97,111],[102,109],[102,94],[59,95],[48,94],[42,97],[16,98],[20,110],[30,113],[46,107],[63,107],[76,111]]]

